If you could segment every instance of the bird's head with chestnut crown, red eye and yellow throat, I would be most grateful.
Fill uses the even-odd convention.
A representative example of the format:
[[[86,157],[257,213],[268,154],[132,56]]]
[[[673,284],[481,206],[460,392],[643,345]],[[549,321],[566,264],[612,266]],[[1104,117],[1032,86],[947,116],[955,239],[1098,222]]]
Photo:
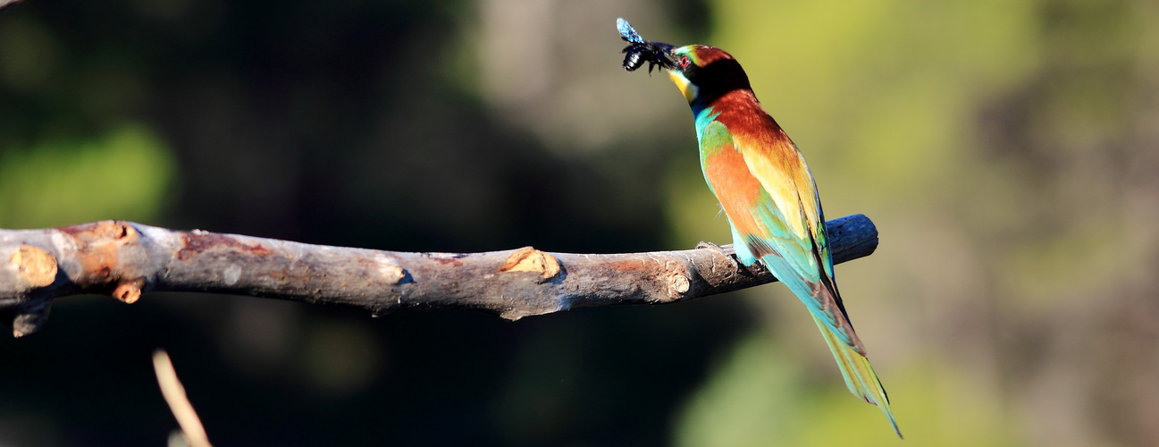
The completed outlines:
[[[751,90],[744,68],[724,50],[687,45],[669,51],[669,78],[693,108],[710,104],[732,90]]]

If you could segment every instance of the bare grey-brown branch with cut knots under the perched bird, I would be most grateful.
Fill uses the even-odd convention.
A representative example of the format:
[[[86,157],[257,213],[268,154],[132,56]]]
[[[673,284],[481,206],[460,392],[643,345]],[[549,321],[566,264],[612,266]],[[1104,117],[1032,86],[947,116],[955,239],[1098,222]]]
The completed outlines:
[[[873,254],[877,229],[854,214],[826,222],[833,262]],[[775,281],[731,246],[582,255],[518,250],[447,254],[312,246],[178,232],[107,220],[0,229],[0,322],[16,337],[44,324],[53,300],[207,292],[401,309],[474,309],[508,320],[584,306],[659,305]]]

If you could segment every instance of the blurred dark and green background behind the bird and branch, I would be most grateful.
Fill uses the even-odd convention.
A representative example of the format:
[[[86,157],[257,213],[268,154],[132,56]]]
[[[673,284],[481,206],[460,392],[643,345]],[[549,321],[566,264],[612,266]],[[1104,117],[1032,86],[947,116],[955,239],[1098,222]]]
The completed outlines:
[[[837,271],[907,445],[1159,445],[1151,0],[24,0],[0,9],[0,227],[728,242],[619,16],[736,56],[826,214],[877,223]],[[518,322],[66,299],[0,339],[0,445],[168,442],[156,347],[220,446],[902,445],[779,285]]]

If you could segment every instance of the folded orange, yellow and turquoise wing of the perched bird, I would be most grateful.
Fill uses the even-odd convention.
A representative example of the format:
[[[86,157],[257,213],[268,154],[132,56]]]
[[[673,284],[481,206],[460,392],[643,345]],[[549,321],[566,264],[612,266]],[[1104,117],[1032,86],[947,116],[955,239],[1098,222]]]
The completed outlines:
[[[788,138],[746,139],[719,123],[702,135],[705,178],[729,217],[741,261],[763,261],[818,322],[865,352],[833,284],[821,201],[796,147]]]

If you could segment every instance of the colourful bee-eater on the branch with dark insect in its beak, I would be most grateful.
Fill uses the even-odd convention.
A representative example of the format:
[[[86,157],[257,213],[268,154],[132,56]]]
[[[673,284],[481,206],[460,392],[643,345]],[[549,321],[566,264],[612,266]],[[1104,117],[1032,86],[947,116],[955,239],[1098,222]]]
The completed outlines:
[[[701,173],[728,218],[737,261],[763,264],[806,305],[850,391],[877,405],[902,438],[837,288],[817,184],[796,144],[757,101],[741,64],[724,50],[643,41],[622,19],[617,28],[640,60],[668,69],[688,101]],[[629,69],[627,63],[628,71],[642,65]]]

